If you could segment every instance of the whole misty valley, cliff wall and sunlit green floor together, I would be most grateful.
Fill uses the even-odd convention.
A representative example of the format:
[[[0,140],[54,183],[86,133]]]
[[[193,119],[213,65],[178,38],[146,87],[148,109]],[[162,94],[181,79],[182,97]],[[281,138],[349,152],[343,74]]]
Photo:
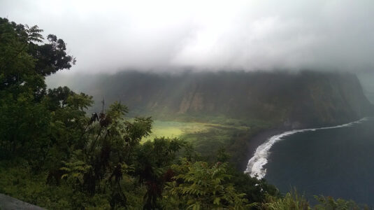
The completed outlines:
[[[259,145],[252,139],[261,132],[339,125],[374,110],[359,78],[351,73],[124,71],[52,76],[47,83],[66,83],[94,96],[91,112],[99,111],[105,99],[106,104],[129,106],[129,118],[152,116],[152,134],[143,142],[178,137],[208,159],[225,148],[240,170]]]

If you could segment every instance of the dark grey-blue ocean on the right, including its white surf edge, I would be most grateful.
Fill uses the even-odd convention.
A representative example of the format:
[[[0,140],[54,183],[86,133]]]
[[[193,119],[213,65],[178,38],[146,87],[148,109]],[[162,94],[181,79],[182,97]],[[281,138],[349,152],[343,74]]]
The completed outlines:
[[[293,130],[261,144],[246,172],[282,193],[313,195],[374,206],[374,118],[334,127]]]

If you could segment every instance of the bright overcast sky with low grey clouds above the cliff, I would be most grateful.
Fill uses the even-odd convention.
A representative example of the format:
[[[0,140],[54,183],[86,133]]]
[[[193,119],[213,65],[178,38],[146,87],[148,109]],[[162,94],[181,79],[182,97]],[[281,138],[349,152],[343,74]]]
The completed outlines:
[[[374,69],[374,1],[17,1],[0,16],[55,34],[75,72]]]

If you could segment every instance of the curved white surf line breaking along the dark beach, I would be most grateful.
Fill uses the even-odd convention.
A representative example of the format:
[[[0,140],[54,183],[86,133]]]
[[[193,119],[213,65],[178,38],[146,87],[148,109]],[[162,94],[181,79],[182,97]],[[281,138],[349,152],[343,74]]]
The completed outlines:
[[[316,131],[316,130],[326,130],[326,129],[333,129],[338,127],[350,127],[354,124],[361,123],[368,118],[362,118],[361,120],[354,121],[352,123],[347,123],[344,125],[337,125],[333,127],[319,127],[319,128],[308,128],[308,129],[301,129],[301,130],[291,130],[287,132],[283,132],[282,134],[275,135],[264,144],[261,144],[257,147],[256,151],[254,152],[253,157],[248,161],[247,169],[245,169],[245,173],[250,174],[250,176],[254,177],[257,176],[257,179],[262,179],[266,175],[266,169],[264,169],[264,165],[268,163],[268,154],[271,147],[277,143],[278,141],[282,140],[283,137],[287,137],[292,134],[300,133],[300,132],[309,132],[309,131]]]

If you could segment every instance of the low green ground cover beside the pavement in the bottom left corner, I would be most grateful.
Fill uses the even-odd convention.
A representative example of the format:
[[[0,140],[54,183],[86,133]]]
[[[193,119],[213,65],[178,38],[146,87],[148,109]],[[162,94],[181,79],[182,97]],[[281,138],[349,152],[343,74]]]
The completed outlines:
[[[34,174],[27,161],[0,162],[0,193],[46,209],[108,209],[106,195],[87,197],[68,185],[50,186],[47,174]]]

